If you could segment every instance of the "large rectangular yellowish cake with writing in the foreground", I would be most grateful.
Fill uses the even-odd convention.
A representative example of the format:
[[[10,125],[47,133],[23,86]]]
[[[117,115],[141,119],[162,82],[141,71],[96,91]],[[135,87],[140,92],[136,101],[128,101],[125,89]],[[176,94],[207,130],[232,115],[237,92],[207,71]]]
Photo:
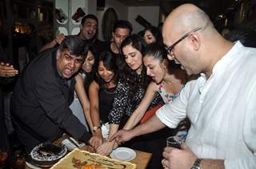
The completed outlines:
[[[134,163],[83,151],[78,148],[55,163],[52,169],[135,169]]]

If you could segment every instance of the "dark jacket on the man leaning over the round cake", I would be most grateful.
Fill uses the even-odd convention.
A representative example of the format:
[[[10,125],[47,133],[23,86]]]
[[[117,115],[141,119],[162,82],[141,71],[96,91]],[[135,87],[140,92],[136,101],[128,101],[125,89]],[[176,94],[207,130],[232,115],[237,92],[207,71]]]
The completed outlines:
[[[56,49],[51,49],[23,70],[14,88],[11,113],[20,128],[34,138],[42,138],[37,139],[39,142],[55,140],[63,132],[87,141],[90,134],[69,108],[73,99],[74,77],[68,85],[58,74]]]

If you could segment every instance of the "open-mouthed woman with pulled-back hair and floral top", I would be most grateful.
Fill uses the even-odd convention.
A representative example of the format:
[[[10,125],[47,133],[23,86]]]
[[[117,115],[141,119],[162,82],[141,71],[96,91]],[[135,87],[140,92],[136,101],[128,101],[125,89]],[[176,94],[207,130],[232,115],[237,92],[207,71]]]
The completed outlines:
[[[144,115],[156,92],[162,96],[162,100],[167,104],[178,96],[186,83],[186,72],[174,61],[168,61],[167,54],[160,45],[151,44],[147,46],[143,54],[143,63],[146,66],[147,75],[152,77],[153,81],[146,89],[142,102],[127,121],[123,128],[125,130],[134,128],[140,120],[144,122],[150,116],[150,114]]]

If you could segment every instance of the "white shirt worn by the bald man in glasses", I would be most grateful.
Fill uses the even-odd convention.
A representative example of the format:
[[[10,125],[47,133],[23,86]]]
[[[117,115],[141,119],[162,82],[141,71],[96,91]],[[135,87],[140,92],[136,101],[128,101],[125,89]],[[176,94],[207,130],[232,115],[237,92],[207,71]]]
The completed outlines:
[[[256,49],[239,41],[216,65],[190,81],[172,104],[156,112],[169,128],[186,116],[186,143],[202,159],[225,159],[228,168],[256,168]]]

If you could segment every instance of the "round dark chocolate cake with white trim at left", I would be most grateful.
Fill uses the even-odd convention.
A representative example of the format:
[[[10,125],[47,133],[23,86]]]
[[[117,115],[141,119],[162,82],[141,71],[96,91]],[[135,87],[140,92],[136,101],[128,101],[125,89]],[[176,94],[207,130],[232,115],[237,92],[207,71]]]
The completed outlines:
[[[31,159],[38,166],[52,166],[66,155],[67,149],[61,144],[41,143],[30,152]]]

